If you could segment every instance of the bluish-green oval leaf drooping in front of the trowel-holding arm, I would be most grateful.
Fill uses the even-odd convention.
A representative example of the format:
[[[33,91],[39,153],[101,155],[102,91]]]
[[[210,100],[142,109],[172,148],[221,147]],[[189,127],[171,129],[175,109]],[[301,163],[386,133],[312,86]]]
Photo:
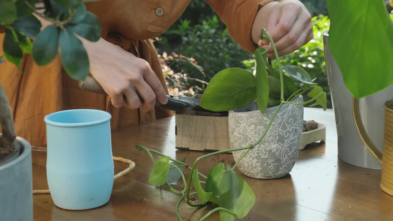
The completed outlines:
[[[59,48],[61,63],[68,76],[83,81],[89,74],[90,63],[81,40],[66,29],[61,29]]]

